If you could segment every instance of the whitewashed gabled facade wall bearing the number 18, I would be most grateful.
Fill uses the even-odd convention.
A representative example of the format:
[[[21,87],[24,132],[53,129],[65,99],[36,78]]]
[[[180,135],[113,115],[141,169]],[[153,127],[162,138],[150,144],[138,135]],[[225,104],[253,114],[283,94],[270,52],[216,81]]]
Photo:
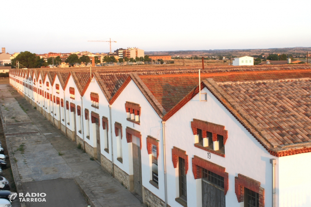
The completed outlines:
[[[140,116],[140,125],[134,124],[128,121],[125,102],[130,101],[137,103],[141,107],[141,116]],[[126,141],[126,127],[133,128],[142,134],[142,185],[148,188],[156,196],[160,197],[162,200],[165,200],[164,197],[164,172],[163,172],[163,156],[162,156],[162,128],[161,119],[157,115],[156,111],[151,107],[149,102],[143,96],[142,92],[136,86],[136,84],[131,80],[126,88],[121,92],[118,98],[114,101],[112,105],[112,124],[119,122],[122,124],[123,129],[123,138],[122,138],[122,150],[123,150],[123,164],[117,160],[117,142],[115,133],[113,131],[113,146],[114,146],[114,163],[121,168],[123,171],[129,175],[133,174],[133,162],[132,162],[132,143],[127,143]],[[158,131],[159,135],[157,135]],[[149,181],[150,179],[150,160],[147,152],[147,143],[146,137],[150,135],[152,137],[160,140],[159,142],[159,159],[158,159],[158,175],[159,175],[159,189],[152,186]],[[134,140],[134,136],[133,136]],[[134,141],[135,142],[135,141]]]

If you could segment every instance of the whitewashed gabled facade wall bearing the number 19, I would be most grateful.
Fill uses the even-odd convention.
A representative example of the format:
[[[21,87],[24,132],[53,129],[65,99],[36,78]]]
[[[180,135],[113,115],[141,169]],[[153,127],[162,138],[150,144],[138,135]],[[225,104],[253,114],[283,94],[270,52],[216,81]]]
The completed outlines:
[[[176,195],[179,194],[179,192],[176,192],[176,177],[178,177],[178,173],[175,173],[176,169],[173,167],[171,157],[171,149],[173,146],[176,146],[185,150],[189,159],[187,173],[188,207],[200,206],[197,203],[196,180],[192,172],[191,159],[194,155],[226,168],[226,172],[229,173],[229,190],[226,194],[227,206],[240,207],[234,191],[234,177],[238,176],[238,173],[261,182],[261,187],[265,189],[265,206],[271,206],[272,166],[270,159],[277,159],[277,157],[270,155],[230,112],[221,105],[211,92],[206,88],[201,92],[207,92],[207,102],[199,102],[199,96],[196,95],[166,121],[168,204],[172,207],[180,207],[179,203],[175,201]],[[194,135],[190,125],[193,119],[225,126],[225,129],[228,130],[225,158],[211,154],[211,159],[208,159],[207,151],[194,146]]]

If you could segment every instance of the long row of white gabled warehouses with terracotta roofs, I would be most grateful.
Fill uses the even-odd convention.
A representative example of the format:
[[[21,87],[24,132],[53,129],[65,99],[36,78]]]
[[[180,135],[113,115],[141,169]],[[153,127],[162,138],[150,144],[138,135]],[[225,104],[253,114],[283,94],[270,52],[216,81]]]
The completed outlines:
[[[10,84],[148,206],[309,206],[310,75],[11,69]]]

